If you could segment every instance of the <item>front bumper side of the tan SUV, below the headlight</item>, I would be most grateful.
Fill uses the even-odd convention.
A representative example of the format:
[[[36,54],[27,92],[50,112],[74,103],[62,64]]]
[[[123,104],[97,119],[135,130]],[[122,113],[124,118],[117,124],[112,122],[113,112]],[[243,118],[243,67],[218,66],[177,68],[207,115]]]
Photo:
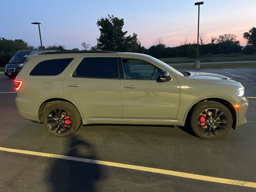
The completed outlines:
[[[249,106],[247,97],[239,97],[237,103],[239,106],[238,118],[236,120],[236,126],[242,126],[247,123],[246,112]]]

